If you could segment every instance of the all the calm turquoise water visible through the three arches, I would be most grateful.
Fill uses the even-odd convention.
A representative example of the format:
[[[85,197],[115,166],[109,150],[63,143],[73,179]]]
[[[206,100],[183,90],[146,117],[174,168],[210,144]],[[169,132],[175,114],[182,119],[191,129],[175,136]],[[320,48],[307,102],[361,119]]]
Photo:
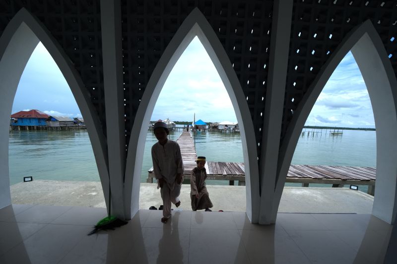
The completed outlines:
[[[170,133],[176,140],[182,131]],[[156,142],[148,131],[141,181],[146,182],[152,166],[150,149]],[[375,131],[345,130],[341,136],[331,136],[325,130],[315,137],[300,137],[292,164],[376,166]],[[212,161],[243,162],[239,133],[206,132],[196,135],[199,156]],[[12,131],[9,134],[10,184],[21,182],[24,176],[34,179],[99,181],[98,170],[88,133],[82,131]],[[228,184],[213,181],[208,184]],[[299,185],[299,184],[298,184]]]

